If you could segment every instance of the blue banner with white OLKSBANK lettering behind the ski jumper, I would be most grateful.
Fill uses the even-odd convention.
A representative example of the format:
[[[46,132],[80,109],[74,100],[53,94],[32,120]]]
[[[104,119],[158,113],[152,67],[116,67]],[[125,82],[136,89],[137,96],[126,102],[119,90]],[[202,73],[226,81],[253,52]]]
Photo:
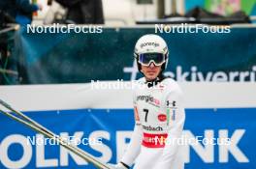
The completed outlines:
[[[132,109],[36,111],[26,115],[57,134],[80,137],[84,141],[81,149],[112,163],[122,154],[134,126]],[[216,140],[228,137],[232,146],[190,145],[185,149],[185,168],[256,168],[255,119],[256,108],[187,109],[184,135]],[[0,168],[94,168],[57,145],[33,145],[33,138],[41,135],[2,114],[0,124]]]

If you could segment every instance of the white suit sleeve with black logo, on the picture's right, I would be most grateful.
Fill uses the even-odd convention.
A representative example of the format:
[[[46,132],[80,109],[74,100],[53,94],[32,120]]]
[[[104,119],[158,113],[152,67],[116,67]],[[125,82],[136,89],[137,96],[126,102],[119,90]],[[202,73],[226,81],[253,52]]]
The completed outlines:
[[[173,169],[176,152],[178,149],[177,138],[182,135],[185,121],[185,112],[183,107],[183,94],[179,88],[171,92],[166,100],[166,111],[168,116],[168,137],[160,161],[157,163],[157,169]]]

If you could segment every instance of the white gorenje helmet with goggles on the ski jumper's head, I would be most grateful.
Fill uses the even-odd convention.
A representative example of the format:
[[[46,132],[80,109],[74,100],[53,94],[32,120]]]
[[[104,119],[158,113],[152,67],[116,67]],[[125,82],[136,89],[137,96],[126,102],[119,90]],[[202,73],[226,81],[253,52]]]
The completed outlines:
[[[163,71],[167,68],[169,50],[167,43],[161,37],[148,34],[144,35],[136,42],[134,56],[140,71],[142,65],[149,66],[151,62],[153,62],[155,66],[162,66],[161,71]]]

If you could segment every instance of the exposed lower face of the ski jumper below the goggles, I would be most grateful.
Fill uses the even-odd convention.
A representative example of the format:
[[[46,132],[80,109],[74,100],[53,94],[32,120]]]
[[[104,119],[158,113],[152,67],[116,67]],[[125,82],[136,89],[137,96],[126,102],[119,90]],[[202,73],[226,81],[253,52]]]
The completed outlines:
[[[142,66],[142,72],[146,80],[154,80],[161,71],[161,66],[155,66],[153,62],[149,66]]]

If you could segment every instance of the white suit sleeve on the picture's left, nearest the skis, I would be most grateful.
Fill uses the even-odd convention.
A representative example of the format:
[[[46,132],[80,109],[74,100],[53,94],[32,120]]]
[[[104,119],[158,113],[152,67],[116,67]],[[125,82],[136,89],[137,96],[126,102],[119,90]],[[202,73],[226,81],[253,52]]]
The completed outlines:
[[[125,154],[121,158],[121,162],[129,166],[133,165],[135,159],[140,154],[141,145],[143,141],[143,130],[141,127],[135,95],[134,95],[134,117],[135,117],[135,127],[131,137],[131,141],[126,149]]]

